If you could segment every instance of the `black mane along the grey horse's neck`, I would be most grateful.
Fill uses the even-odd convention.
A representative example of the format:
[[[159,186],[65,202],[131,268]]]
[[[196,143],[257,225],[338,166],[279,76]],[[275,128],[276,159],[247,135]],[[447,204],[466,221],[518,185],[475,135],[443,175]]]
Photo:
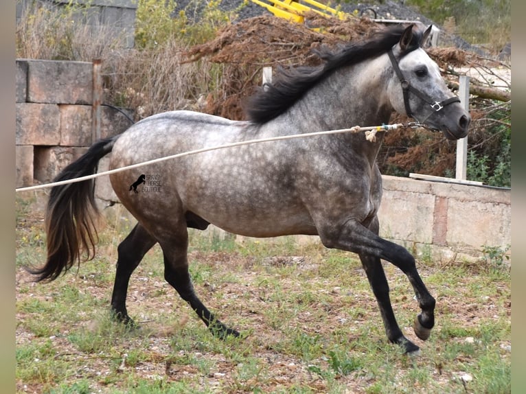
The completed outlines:
[[[315,53],[322,60],[325,60],[325,64],[321,66],[279,69],[276,82],[265,84],[249,100],[246,109],[249,120],[256,124],[264,124],[275,119],[301,99],[312,86],[315,86],[336,69],[357,64],[391,49],[393,45],[398,43],[406,27],[396,26],[381,30],[374,34],[370,40],[349,43],[336,51],[327,48],[315,50]],[[421,37],[421,32],[413,32],[413,39],[406,53],[420,46]]]

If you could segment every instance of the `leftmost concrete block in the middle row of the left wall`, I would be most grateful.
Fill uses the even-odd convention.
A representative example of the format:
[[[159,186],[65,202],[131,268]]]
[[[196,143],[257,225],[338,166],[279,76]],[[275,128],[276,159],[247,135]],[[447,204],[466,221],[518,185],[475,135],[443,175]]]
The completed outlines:
[[[56,104],[16,103],[16,145],[58,145],[60,111]]]

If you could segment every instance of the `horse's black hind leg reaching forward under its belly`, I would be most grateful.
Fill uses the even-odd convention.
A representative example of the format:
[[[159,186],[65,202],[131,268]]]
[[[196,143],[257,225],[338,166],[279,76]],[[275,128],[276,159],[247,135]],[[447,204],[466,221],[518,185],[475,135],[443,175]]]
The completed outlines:
[[[239,333],[221,323],[214,314],[203,305],[197,297],[188,271],[187,247],[188,235],[180,235],[176,240],[169,242],[160,241],[164,254],[164,276],[166,281],[173,286],[181,298],[185,300],[196,314],[205,322],[209,330],[219,338],[228,335],[239,336]]]

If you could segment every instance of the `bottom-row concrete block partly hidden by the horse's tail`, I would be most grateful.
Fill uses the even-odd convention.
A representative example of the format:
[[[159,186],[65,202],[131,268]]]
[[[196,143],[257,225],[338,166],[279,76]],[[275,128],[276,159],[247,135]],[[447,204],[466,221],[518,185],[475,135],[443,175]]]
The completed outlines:
[[[52,182],[58,173],[87,152],[88,148],[71,146],[35,146],[34,177],[42,183]]]

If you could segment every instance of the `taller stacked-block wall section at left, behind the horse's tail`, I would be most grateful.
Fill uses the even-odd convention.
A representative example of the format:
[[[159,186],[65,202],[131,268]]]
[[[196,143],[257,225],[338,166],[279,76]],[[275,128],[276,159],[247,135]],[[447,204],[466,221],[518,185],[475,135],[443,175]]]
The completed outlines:
[[[16,187],[47,183],[93,142],[93,64],[16,60]],[[100,108],[100,136],[130,121]]]

